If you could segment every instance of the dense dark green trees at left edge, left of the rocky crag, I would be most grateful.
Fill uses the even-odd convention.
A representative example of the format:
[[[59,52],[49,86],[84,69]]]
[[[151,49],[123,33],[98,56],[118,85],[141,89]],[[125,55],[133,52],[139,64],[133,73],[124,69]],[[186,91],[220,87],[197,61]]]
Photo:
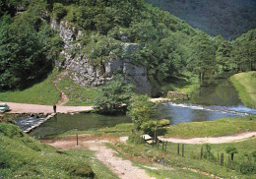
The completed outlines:
[[[0,90],[24,89],[46,77],[58,57],[62,42],[37,8],[14,22],[9,16],[0,20]]]

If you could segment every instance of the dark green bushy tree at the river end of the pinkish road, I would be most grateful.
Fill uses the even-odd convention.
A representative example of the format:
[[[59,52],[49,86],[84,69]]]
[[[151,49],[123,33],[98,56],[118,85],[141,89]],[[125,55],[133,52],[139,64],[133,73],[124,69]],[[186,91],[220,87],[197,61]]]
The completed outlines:
[[[99,113],[113,114],[123,112],[129,105],[133,86],[127,84],[121,75],[116,75],[99,89],[100,95],[95,101],[95,110]]]

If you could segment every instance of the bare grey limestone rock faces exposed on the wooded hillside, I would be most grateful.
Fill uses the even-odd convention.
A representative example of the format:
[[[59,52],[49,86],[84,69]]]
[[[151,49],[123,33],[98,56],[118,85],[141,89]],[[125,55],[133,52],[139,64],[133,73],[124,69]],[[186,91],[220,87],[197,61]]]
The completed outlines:
[[[62,54],[65,56],[63,68],[71,72],[71,78],[83,87],[96,87],[104,84],[112,79],[115,71],[119,71],[124,75],[127,83],[135,86],[135,91],[138,93],[147,93],[152,95],[152,86],[148,79],[148,70],[144,66],[136,65],[132,59],[121,59],[120,57],[111,58],[101,64],[94,64],[86,53],[77,52],[82,48],[80,43],[76,40],[83,34],[82,31],[74,27],[70,27],[67,21],[57,23],[51,21],[53,30],[59,31],[59,34],[64,42],[64,50]],[[121,49],[126,54],[133,53],[140,48],[137,43],[129,43],[124,37],[124,42],[120,43]],[[72,52],[76,50],[76,52]]]

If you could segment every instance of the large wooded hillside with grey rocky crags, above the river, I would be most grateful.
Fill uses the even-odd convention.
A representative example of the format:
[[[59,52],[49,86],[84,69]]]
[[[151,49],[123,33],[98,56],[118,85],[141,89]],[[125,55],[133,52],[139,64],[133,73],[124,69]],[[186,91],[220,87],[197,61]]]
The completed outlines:
[[[203,85],[213,74],[254,68],[255,30],[226,41],[143,0],[1,6],[0,91],[30,88],[58,68],[82,87],[95,88],[121,74],[137,93],[159,96],[163,83],[184,73]]]

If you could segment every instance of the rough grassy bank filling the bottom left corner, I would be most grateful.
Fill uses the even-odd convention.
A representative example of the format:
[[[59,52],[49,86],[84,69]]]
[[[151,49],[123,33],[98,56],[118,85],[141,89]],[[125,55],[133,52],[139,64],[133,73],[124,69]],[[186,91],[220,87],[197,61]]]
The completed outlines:
[[[55,149],[0,123],[0,178],[116,178],[88,150]]]

